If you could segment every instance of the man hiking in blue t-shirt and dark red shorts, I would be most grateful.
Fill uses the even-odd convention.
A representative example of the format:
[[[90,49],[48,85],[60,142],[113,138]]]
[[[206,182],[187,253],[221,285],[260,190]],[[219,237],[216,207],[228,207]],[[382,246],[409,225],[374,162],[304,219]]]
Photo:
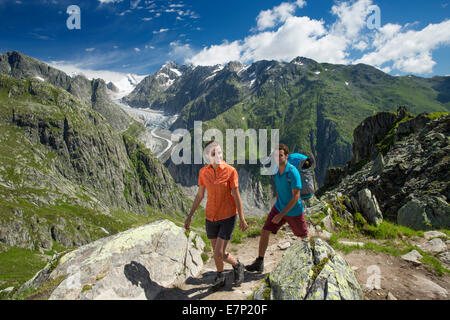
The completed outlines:
[[[278,171],[275,174],[277,201],[270,211],[259,239],[258,258],[245,267],[247,271],[264,271],[264,255],[269,244],[270,233],[276,234],[286,222],[294,235],[301,238],[308,237],[304,208],[300,199],[302,182],[297,168],[288,163],[289,148],[280,144],[275,151],[275,161]]]

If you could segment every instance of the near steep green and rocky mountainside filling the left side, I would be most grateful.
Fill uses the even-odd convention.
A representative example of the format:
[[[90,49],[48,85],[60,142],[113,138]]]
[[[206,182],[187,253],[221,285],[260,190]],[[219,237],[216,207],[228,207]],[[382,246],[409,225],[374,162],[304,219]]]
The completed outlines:
[[[1,242],[79,246],[114,230],[113,211],[185,211],[166,168],[68,92],[0,75],[0,107]]]

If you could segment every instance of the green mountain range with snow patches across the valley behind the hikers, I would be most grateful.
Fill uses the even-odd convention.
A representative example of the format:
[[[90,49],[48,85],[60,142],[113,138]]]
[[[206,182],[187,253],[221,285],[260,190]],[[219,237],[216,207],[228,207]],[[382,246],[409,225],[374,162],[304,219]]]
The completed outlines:
[[[323,185],[328,168],[351,159],[353,130],[368,116],[399,106],[416,115],[448,112],[450,77],[391,76],[369,65],[318,63],[303,57],[251,65],[169,62],[123,101],[179,114],[172,130],[192,130],[194,121],[203,121],[204,131],[279,129],[281,142],[291,151],[314,157],[317,182]],[[180,182],[176,176],[181,172],[171,172]],[[187,185],[196,184],[196,174]]]

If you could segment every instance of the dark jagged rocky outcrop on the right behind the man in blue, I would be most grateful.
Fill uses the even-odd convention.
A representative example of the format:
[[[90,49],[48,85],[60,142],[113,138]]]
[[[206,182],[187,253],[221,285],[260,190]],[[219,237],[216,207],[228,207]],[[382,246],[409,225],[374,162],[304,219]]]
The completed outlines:
[[[426,229],[445,228],[448,224],[444,223],[446,218],[436,220],[432,217],[433,210],[449,216],[448,206],[434,206],[433,209],[432,204],[442,201],[445,203],[450,196],[449,128],[448,113],[420,114],[416,117],[406,115],[395,122],[389,132],[376,143],[376,148],[380,151],[378,155],[373,155],[374,160],[366,159],[356,165],[347,164],[339,168],[335,178],[329,179],[328,186],[321,190],[321,194],[326,198],[337,193],[358,198],[357,193],[367,188],[376,197],[385,218],[398,222],[410,220],[406,224],[411,227],[415,225],[413,228],[419,225],[423,228],[427,220],[439,220],[439,225],[430,224]],[[434,200],[424,201],[423,197]],[[438,198],[442,201],[438,201]],[[412,200],[416,202],[411,202]],[[417,202],[422,205],[412,205]],[[406,210],[407,207],[398,217],[399,209],[407,203],[410,203],[410,207],[412,205],[417,208],[416,216],[422,216],[421,222],[412,223],[418,217],[414,218],[412,211]],[[423,216],[422,213],[427,214]]]

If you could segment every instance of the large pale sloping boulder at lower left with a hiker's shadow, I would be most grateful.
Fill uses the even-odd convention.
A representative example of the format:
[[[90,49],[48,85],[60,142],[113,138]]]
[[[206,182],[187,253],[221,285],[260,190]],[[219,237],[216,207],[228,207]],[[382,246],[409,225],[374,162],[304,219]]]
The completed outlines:
[[[53,260],[19,292],[64,279],[50,300],[154,299],[199,274],[204,246],[194,232],[160,220],[82,246],[59,257],[56,267]]]

